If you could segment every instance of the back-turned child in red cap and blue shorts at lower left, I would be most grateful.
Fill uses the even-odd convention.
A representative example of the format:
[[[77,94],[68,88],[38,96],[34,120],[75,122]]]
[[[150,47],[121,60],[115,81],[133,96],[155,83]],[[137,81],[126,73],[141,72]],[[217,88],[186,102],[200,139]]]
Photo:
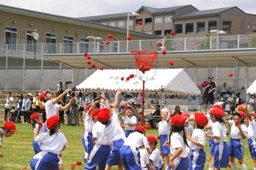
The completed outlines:
[[[42,124],[38,125],[35,134],[35,142],[38,142],[41,152],[30,160],[33,170],[52,169],[59,170],[59,156],[65,149],[67,140],[63,133],[59,132],[59,115],[53,115],[46,121],[47,133],[39,134]]]

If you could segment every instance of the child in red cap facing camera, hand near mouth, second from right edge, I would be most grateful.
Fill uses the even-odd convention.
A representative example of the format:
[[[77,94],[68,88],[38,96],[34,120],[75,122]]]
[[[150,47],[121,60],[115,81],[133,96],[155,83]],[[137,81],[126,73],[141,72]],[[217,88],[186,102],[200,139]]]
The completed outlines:
[[[233,121],[230,122],[230,163],[233,169],[236,169],[235,157],[239,164],[242,166],[242,170],[247,169],[243,162],[243,143],[242,139],[246,139],[247,127],[244,124],[246,119],[245,112],[237,111],[234,112]]]

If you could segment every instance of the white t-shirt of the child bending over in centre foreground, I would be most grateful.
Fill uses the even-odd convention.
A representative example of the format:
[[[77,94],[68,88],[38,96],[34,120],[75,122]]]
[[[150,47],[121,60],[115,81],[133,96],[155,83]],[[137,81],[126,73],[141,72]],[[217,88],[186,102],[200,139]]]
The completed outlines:
[[[145,148],[149,148],[148,139],[142,133],[138,132],[131,133],[130,136],[125,139],[123,145],[128,145],[135,148],[140,148],[142,145],[144,145]]]

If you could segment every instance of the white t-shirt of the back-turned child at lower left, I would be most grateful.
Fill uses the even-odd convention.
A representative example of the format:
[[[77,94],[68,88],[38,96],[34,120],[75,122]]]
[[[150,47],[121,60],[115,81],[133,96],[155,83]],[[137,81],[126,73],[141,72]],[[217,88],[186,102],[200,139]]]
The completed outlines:
[[[63,133],[58,132],[50,136],[50,133],[41,133],[35,137],[35,142],[38,142],[41,151],[60,154],[67,143],[67,139]]]

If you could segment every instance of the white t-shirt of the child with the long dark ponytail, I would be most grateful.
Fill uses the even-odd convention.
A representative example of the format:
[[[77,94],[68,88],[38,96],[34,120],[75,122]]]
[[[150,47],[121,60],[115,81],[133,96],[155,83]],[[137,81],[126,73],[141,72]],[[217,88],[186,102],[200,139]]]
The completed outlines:
[[[184,144],[182,133],[172,133],[170,142],[171,142],[170,144],[171,154],[174,154],[177,148],[183,148],[181,155],[178,157],[182,157],[182,158],[187,157],[187,150]]]

